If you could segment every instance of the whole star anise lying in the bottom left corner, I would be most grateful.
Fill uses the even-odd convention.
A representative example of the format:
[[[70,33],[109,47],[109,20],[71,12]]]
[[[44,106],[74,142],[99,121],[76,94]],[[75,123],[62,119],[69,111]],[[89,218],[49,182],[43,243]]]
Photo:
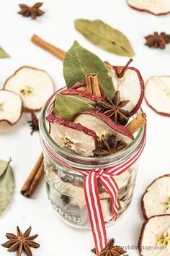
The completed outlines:
[[[36,234],[34,236],[30,236],[30,233],[31,226],[24,232],[24,234],[22,234],[19,227],[17,226],[17,235],[6,233],[6,237],[9,239],[9,241],[1,245],[3,247],[9,248],[8,252],[17,251],[17,256],[21,256],[23,251],[26,253],[26,255],[32,256],[30,247],[38,248],[40,247],[40,244],[37,244],[33,241],[38,235]]]

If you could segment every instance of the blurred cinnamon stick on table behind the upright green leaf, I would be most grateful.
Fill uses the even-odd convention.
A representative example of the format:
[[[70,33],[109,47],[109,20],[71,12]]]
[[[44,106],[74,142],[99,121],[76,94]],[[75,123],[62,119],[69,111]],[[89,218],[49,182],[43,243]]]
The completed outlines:
[[[50,54],[53,54],[54,56],[58,57],[58,59],[61,59],[61,61],[63,61],[64,56],[66,55],[65,51],[61,50],[58,47],[53,46],[52,44],[46,42],[45,40],[42,40],[42,38],[40,38],[37,35],[33,35],[31,40],[32,40],[32,43],[35,43],[37,46],[40,46],[45,51],[50,52]]]

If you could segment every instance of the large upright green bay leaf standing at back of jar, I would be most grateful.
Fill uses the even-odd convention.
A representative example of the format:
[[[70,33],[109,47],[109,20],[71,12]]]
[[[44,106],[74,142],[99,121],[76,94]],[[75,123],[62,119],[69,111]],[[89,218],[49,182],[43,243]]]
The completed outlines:
[[[104,94],[112,99],[115,94],[115,87],[112,78],[109,77],[106,65],[97,55],[86,50],[75,41],[63,61],[63,76],[67,88],[70,88],[76,82],[84,82],[86,74],[89,73],[97,74],[99,85],[102,86]]]

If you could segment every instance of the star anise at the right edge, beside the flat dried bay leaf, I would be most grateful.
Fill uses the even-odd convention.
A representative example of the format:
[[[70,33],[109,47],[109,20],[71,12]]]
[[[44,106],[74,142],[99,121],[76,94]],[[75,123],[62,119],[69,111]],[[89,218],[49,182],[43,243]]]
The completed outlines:
[[[170,35],[162,32],[160,35],[154,32],[153,35],[147,35],[146,46],[164,49],[166,44],[170,42]]]

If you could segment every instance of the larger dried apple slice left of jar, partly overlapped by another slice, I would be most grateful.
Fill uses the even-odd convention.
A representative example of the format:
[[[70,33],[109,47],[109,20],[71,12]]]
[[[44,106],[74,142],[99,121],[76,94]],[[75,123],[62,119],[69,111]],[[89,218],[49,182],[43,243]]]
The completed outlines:
[[[21,67],[6,80],[4,89],[21,95],[24,110],[38,111],[54,93],[54,83],[44,70]]]

